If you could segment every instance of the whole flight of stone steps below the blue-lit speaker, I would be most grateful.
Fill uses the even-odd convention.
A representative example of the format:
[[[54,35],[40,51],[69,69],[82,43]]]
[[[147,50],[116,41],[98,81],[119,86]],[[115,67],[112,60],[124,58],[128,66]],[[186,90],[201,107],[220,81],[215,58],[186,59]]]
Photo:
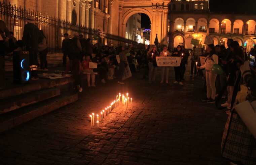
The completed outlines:
[[[72,77],[9,83],[0,90],[0,132],[75,102],[78,96],[71,88],[73,83]]]

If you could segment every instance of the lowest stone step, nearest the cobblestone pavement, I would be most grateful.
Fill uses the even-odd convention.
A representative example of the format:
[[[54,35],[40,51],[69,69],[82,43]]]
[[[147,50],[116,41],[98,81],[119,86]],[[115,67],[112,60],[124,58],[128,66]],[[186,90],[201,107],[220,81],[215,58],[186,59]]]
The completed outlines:
[[[0,115],[0,132],[13,128],[65,105],[77,101],[77,92],[66,92],[59,96]]]

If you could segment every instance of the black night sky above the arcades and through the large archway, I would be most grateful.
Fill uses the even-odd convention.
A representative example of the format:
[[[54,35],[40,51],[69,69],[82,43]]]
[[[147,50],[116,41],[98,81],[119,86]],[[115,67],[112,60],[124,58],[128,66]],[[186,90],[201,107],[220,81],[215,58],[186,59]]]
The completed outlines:
[[[220,11],[221,13],[256,14],[256,0],[210,0],[210,12],[220,13]],[[150,19],[143,13],[141,27],[150,29]]]

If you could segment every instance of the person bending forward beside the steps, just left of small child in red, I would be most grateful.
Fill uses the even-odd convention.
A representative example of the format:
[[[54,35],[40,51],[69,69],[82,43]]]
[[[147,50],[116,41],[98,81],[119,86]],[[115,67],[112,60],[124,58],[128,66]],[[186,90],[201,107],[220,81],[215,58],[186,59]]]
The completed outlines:
[[[69,71],[71,71],[72,76],[75,79],[75,86],[77,87],[79,92],[83,91],[83,84],[82,84],[82,65],[81,62],[75,57],[71,56],[70,60],[67,64],[65,72],[62,73],[62,75],[67,74]]]

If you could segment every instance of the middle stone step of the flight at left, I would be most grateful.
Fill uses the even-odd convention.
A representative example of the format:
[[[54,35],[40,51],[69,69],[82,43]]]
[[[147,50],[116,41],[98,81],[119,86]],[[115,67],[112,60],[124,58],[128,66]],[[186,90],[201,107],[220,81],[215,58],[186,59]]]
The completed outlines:
[[[5,98],[0,100],[0,114],[13,111],[40,101],[58,96],[61,94],[60,88],[47,88],[34,91],[28,94]]]

